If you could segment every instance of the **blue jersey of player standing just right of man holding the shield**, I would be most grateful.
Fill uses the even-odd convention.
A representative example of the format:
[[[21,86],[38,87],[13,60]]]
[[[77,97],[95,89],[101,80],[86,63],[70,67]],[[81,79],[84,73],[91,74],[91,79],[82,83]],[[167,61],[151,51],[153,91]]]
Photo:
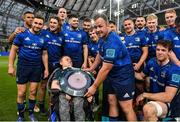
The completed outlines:
[[[125,35],[124,44],[130,54],[133,63],[137,63],[142,55],[142,47],[148,46],[147,39],[140,33],[134,33],[133,35]]]

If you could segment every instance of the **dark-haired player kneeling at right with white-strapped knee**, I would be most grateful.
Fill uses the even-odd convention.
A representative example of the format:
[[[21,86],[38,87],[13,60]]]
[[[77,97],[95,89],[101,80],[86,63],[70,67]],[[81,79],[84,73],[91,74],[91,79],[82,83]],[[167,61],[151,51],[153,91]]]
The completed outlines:
[[[179,88],[180,67],[173,64],[168,57],[172,44],[169,41],[157,42],[156,58],[152,58],[136,78],[150,77],[150,93],[144,92],[136,99],[137,104],[144,99],[150,100],[143,107],[144,120],[158,121],[168,114],[169,103]],[[177,105],[178,106],[178,105]]]

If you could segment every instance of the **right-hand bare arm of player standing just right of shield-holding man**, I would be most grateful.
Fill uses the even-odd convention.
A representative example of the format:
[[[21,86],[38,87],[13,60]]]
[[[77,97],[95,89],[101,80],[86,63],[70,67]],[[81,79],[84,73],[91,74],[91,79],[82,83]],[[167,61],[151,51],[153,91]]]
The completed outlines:
[[[142,55],[140,60],[138,61],[137,64],[135,64],[134,69],[136,71],[138,71],[140,69],[140,67],[143,65],[143,63],[145,62],[146,58],[148,56],[148,46],[142,47]]]

